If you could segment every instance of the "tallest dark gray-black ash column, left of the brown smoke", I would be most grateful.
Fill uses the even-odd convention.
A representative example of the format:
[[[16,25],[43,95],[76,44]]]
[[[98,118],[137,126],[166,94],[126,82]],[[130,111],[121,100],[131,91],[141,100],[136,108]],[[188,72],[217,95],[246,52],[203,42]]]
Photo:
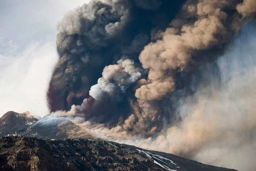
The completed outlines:
[[[58,24],[60,61],[49,86],[50,110],[81,104],[103,68],[123,55],[139,63],[151,31],[165,29],[181,4],[180,0],[91,1],[69,11]]]

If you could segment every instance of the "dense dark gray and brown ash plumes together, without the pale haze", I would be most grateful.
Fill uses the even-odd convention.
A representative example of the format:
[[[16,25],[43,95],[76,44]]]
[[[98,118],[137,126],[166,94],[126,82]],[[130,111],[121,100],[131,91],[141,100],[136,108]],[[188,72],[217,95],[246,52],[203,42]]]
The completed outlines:
[[[80,105],[84,121],[155,135],[180,121],[177,101],[209,82],[197,67],[254,19],[252,0],[90,1],[58,24],[50,110]]]

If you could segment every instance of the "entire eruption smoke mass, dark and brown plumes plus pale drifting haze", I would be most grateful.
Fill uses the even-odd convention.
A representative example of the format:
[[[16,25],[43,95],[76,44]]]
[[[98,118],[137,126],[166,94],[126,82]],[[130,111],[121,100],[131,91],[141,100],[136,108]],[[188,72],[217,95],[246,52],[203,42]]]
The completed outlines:
[[[255,61],[225,55],[255,19],[255,0],[90,1],[58,24],[50,110],[104,139],[240,168],[233,149],[256,147]]]

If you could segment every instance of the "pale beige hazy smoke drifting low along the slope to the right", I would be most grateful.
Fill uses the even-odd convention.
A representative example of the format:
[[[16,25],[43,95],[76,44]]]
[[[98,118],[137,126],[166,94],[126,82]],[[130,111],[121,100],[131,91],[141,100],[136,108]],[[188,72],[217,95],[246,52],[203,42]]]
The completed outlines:
[[[207,164],[255,170],[255,28],[255,24],[246,28],[225,55],[193,73],[202,73],[203,78],[196,93],[177,103],[182,121],[156,137],[145,138],[129,131],[134,115],[112,128],[79,117],[73,122],[103,139],[175,153]],[[216,65],[218,72],[214,73],[212,66]]]

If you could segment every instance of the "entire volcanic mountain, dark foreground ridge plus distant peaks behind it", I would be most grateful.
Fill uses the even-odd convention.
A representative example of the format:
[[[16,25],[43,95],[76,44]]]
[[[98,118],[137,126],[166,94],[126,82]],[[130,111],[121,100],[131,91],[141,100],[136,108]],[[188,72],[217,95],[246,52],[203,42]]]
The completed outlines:
[[[78,140],[75,133],[81,131],[84,139]],[[0,118],[0,133],[3,171],[232,171],[168,153],[97,140],[67,118],[52,115],[40,118],[29,112],[7,112]]]

